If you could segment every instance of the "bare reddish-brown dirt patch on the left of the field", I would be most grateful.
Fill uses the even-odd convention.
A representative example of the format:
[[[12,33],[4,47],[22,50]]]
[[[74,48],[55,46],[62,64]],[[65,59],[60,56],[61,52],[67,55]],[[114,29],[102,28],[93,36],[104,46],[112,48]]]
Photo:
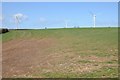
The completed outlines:
[[[31,66],[42,63],[48,54],[47,49],[55,42],[53,39],[24,39],[3,43],[3,77],[30,72]]]

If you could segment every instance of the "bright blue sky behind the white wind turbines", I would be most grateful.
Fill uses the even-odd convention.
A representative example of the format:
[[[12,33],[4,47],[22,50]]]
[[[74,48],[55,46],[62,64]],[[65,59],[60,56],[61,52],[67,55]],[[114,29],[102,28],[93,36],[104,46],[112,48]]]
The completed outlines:
[[[117,2],[3,2],[3,26],[16,28],[13,16],[23,14],[19,28],[92,27],[96,14],[96,26],[118,25]]]

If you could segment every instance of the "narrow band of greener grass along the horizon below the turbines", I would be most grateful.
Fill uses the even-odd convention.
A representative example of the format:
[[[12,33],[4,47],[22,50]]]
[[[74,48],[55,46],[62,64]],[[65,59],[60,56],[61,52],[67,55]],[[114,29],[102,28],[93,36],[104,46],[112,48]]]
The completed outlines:
[[[67,37],[68,39],[71,40],[79,39],[80,41],[84,40],[87,42],[102,41],[104,43],[105,42],[112,43],[112,42],[116,42],[117,36],[118,36],[117,28],[12,30],[8,33],[3,34],[3,41],[9,41],[17,38],[31,38],[31,37],[32,38],[55,37],[59,39],[64,39],[65,37]]]

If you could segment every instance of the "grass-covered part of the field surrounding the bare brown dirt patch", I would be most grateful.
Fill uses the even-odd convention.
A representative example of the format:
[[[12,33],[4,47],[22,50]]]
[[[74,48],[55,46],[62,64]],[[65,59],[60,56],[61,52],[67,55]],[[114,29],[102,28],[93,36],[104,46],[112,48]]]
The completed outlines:
[[[58,63],[52,64],[51,62],[51,65],[54,65],[52,68],[44,68],[44,70],[51,70],[52,72],[44,73],[43,69],[37,68],[35,70],[38,72],[31,75],[33,77],[118,77],[118,28],[11,30],[2,34],[3,43],[15,39],[34,38],[55,40],[54,46],[46,49],[46,52],[56,53],[57,56],[62,55],[62,57]],[[73,64],[70,65],[70,63]],[[62,64],[63,67],[58,66],[59,64]],[[90,70],[77,72],[79,66],[82,66],[81,69],[83,69],[89,65],[91,65]]]

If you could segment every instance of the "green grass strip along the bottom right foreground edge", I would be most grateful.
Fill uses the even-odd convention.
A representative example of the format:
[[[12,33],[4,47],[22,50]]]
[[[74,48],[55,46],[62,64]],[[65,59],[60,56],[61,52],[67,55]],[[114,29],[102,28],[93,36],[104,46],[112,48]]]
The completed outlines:
[[[117,78],[118,69],[104,67],[100,70],[75,74],[75,73],[44,73],[44,74],[34,74],[33,76],[43,76],[45,78]]]

